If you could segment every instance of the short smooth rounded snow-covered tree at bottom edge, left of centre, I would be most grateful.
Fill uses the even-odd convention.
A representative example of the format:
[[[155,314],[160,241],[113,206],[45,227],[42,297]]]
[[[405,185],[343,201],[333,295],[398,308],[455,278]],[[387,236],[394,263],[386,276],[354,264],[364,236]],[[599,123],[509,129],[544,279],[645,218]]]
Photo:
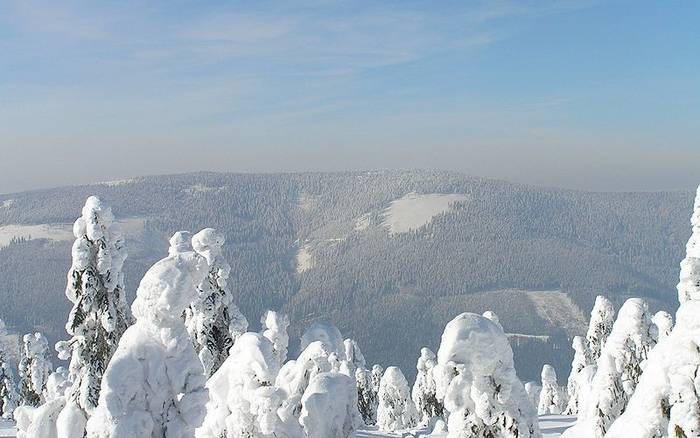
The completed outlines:
[[[359,424],[354,379],[340,373],[314,376],[304,391],[299,422],[306,438],[351,438]]]

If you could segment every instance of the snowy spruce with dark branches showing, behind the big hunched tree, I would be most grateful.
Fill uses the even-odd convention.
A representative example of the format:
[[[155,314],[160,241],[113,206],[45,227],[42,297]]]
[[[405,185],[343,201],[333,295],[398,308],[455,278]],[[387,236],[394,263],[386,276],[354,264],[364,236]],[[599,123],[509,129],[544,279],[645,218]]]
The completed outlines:
[[[177,234],[172,237],[169,253],[177,251],[174,247],[185,247],[180,240]],[[185,326],[207,376],[219,369],[236,338],[248,330],[248,320],[233,304],[227,288],[231,267],[222,254],[225,242],[213,228],[192,236],[192,247],[207,259],[209,272],[197,285],[197,298],[185,309]]]

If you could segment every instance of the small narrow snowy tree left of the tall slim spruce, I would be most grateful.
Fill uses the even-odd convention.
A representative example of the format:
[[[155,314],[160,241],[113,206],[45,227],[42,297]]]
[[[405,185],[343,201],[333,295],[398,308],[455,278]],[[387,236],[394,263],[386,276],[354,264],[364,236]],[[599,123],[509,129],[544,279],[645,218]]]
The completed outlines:
[[[44,390],[51,368],[49,342],[44,335],[24,335],[22,359],[19,362],[20,396],[24,404],[39,406],[44,403]]]

